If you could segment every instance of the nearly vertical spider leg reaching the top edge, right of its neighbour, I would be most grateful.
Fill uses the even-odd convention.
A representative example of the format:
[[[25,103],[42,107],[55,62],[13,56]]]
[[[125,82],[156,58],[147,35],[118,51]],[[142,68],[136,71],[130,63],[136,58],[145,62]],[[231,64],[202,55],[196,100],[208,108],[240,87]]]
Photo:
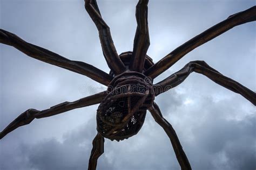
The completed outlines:
[[[149,26],[147,24],[147,4],[149,0],[140,0],[136,6],[137,30],[134,37],[130,69],[142,73],[147,49],[150,46]]]

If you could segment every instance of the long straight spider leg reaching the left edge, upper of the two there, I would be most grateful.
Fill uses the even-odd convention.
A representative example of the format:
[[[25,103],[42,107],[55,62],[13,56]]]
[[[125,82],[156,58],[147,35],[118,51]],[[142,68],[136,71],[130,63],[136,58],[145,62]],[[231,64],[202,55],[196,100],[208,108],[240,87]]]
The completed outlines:
[[[51,65],[62,67],[71,70],[72,72],[90,77],[92,80],[95,80],[106,86],[109,85],[113,78],[109,74],[96,67],[93,67],[92,65],[81,61],[66,59],[59,54],[49,51],[48,49],[30,44],[15,34],[2,29],[0,29],[0,43],[13,46],[34,59],[41,60],[43,62],[50,63]]]

